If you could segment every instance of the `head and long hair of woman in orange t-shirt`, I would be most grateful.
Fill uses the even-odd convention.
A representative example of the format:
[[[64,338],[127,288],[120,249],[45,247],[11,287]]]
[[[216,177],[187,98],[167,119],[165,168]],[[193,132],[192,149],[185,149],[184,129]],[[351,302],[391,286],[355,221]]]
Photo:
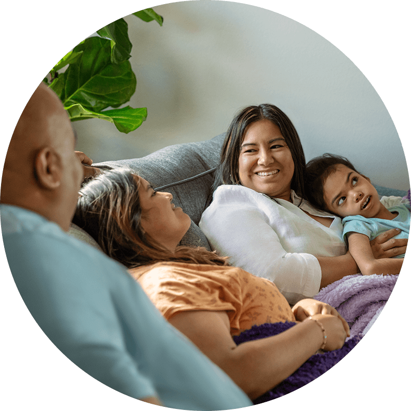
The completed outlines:
[[[128,268],[166,260],[226,265],[225,258],[206,249],[177,247],[191,219],[172,200],[123,167],[84,184],[73,222]]]

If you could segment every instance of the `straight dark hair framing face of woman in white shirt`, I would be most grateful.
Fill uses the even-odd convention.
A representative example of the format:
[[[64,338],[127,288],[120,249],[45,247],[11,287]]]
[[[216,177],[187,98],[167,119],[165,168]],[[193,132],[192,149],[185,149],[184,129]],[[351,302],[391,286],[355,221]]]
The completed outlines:
[[[305,157],[300,137],[291,120],[278,107],[272,104],[249,106],[239,111],[231,122],[226,139],[221,148],[220,163],[217,167],[213,191],[222,184],[241,184],[238,172],[241,142],[246,128],[260,120],[270,120],[277,125],[290,148],[294,161],[294,175],[291,180],[291,189],[304,197],[304,169]]]

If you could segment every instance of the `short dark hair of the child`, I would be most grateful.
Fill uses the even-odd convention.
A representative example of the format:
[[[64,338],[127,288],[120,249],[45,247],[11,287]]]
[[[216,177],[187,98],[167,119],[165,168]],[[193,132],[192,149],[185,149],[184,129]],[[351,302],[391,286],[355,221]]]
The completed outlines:
[[[324,200],[324,182],[337,169],[338,164],[343,164],[358,173],[345,157],[330,153],[315,157],[306,165],[304,176],[305,194],[312,206],[319,210],[329,211]]]

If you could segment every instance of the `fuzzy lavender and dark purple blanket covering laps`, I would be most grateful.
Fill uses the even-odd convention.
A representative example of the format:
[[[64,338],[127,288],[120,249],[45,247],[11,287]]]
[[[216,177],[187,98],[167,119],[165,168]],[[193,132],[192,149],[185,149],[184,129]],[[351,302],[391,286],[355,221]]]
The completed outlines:
[[[398,275],[350,275],[323,288],[314,298],[337,308],[350,325],[351,337],[339,350],[310,357],[290,377],[253,403],[260,404],[289,394],[320,377],[343,359],[376,321],[394,289],[397,278]],[[253,326],[233,339],[238,345],[279,334],[295,324],[287,322]]]

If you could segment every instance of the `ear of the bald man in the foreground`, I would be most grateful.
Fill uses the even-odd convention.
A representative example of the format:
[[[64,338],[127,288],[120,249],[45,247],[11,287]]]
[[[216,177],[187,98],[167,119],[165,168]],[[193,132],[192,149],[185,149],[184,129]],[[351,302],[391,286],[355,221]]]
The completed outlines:
[[[42,148],[34,159],[34,174],[43,188],[55,190],[61,184],[62,167],[60,156],[51,147]]]

